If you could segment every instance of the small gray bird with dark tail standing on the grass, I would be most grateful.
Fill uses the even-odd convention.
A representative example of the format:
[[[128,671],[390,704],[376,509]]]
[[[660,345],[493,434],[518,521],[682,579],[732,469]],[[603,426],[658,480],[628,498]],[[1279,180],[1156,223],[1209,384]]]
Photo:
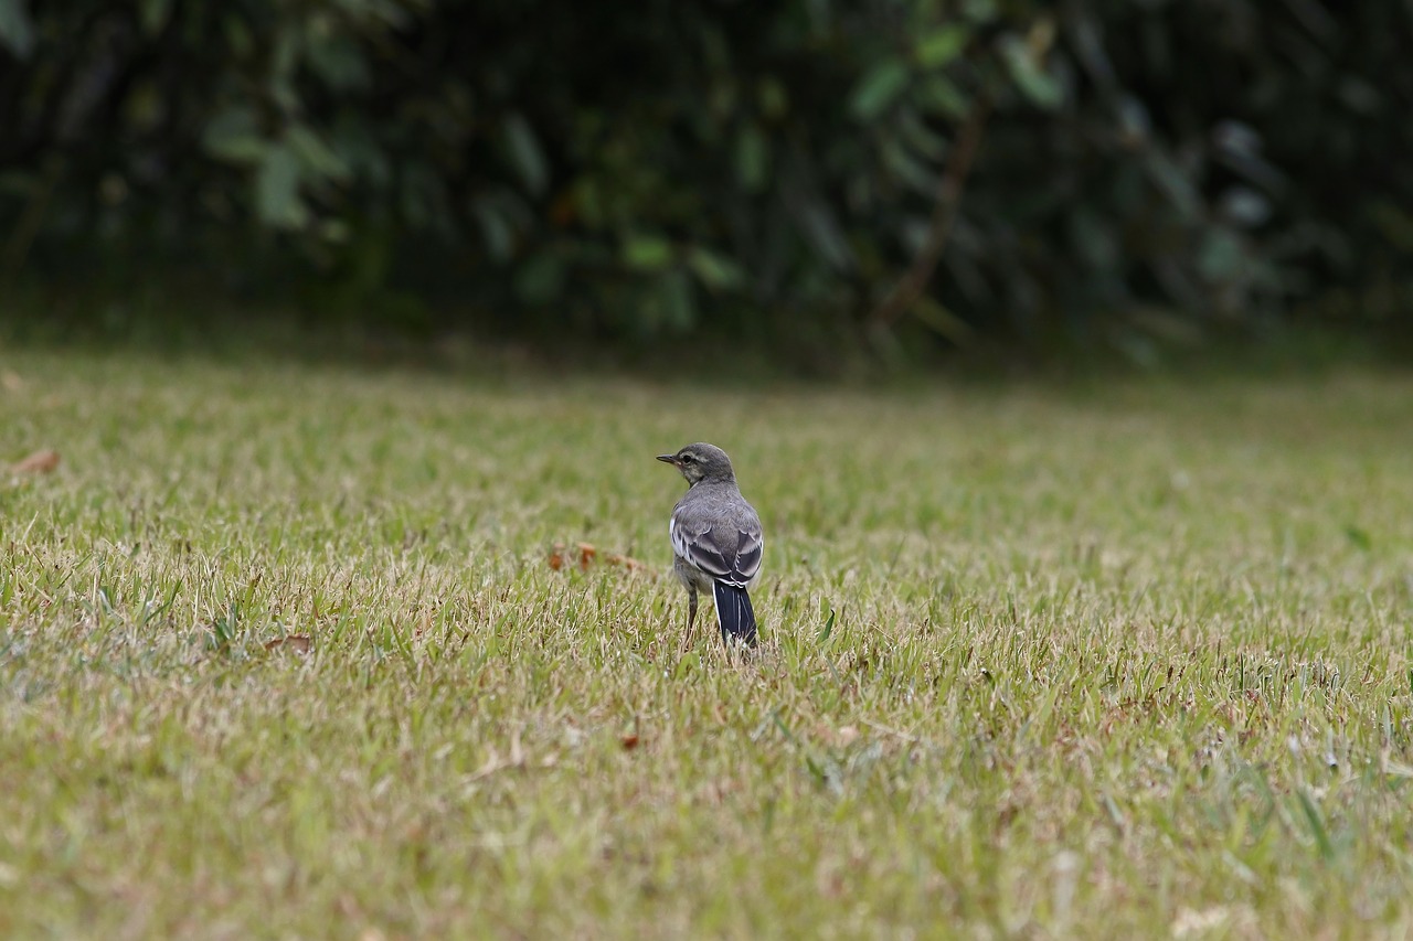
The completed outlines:
[[[687,493],[673,507],[667,531],[677,560],[673,571],[687,586],[687,633],[697,622],[697,592],[716,602],[721,639],[756,646],[756,610],[746,591],[760,574],[760,517],[736,486],[731,458],[716,445],[687,445],[660,454],[687,478]]]

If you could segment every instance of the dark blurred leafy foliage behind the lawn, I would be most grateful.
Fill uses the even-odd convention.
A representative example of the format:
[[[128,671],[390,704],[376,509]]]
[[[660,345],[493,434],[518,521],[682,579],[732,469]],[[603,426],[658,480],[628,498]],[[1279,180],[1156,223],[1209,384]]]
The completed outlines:
[[[0,0],[0,274],[776,348],[1399,326],[1409,48],[1402,0]]]

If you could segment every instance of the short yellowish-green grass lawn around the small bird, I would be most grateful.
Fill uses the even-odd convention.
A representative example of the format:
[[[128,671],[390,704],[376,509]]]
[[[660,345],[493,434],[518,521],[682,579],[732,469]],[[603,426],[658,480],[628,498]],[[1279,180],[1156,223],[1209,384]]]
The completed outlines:
[[[1413,380],[0,380],[0,937],[1413,934]]]

